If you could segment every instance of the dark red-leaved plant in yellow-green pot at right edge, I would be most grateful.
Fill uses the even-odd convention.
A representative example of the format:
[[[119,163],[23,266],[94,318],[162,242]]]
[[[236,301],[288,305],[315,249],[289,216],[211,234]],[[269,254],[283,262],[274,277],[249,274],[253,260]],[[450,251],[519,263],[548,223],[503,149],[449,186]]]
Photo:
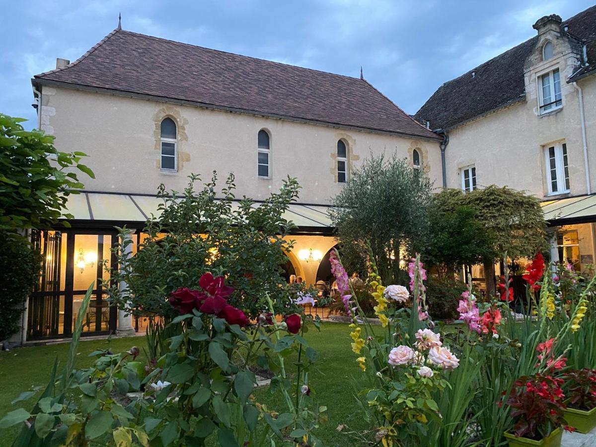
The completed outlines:
[[[564,417],[579,433],[596,427],[596,370],[571,370],[564,376],[568,399]]]

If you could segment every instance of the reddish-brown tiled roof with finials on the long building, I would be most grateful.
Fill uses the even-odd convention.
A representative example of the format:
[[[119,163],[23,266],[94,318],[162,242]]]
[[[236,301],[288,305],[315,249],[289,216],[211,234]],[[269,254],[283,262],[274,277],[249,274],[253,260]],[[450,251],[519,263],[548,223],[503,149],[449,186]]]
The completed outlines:
[[[246,113],[439,139],[364,79],[114,30],[36,79]]]

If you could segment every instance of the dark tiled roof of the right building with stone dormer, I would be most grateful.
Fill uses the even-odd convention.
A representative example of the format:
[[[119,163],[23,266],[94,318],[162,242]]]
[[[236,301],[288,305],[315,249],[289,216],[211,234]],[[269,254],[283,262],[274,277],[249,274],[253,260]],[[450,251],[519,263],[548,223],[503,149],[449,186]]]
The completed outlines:
[[[588,63],[571,81],[596,70],[596,6],[561,23],[587,46]],[[448,129],[525,97],[523,67],[538,37],[523,42],[456,79],[445,82],[418,110],[415,118],[430,121],[431,129]],[[472,74],[474,73],[474,75]]]

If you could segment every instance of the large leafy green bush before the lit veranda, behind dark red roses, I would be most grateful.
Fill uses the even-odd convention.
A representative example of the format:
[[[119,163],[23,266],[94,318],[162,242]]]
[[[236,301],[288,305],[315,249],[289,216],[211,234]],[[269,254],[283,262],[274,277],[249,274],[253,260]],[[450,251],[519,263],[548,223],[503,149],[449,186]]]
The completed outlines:
[[[259,300],[272,297],[275,312],[291,309],[281,265],[287,262],[284,251],[292,242],[284,239],[294,225],[283,214],[296,200],[299,185],[288,178],[278,193],[258,206],[243,198],[234,201],[234,176],[229,175],[222,198],[215,200],[216,174],[200,191],[194,190],[197,176],[191,175],[181,198],[158,191],[163,201],[159,218],[147,222],[149,237],[136,254],[129,258],[125,241],[117,247],[120,271],[113,271],[108,286],[110,300],[120,309],[153,312],[172,317],[172,306],[166,301],[170,292],[188,284],[198,284],[204,272],[225,275],[235,291],[229,303],[256,316],[262,310]],[[128,230],[123,229],[121,238]],[[122,239],[121,239],[122,240]],[[128,291],[118,290],[126,281]]]

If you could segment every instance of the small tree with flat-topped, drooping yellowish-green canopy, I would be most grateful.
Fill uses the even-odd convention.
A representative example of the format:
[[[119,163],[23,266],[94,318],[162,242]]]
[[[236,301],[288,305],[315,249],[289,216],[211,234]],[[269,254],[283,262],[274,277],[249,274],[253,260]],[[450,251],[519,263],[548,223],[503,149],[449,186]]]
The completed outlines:
[[[485,268],[486,291],[495,292],[495,262],[505,253],[511,259],[531,257],[546,247],[546,222],[536,197],[507,187],[491,185],[463,193],[446,190],[433,198],[433,207],[442,215],[457,213],[461,207],[475,211],[475,218],[489,235],[492,250],[479,246]]]

